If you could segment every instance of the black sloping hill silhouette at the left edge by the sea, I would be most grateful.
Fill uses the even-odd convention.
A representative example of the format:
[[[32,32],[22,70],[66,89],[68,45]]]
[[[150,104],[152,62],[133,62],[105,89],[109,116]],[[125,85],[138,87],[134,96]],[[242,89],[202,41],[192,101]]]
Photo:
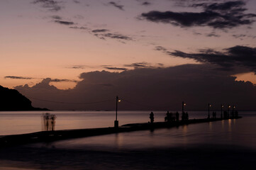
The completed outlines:
[[[34,108],[31,101],[14,89],[0,86],[0,111],[48,111]]]

